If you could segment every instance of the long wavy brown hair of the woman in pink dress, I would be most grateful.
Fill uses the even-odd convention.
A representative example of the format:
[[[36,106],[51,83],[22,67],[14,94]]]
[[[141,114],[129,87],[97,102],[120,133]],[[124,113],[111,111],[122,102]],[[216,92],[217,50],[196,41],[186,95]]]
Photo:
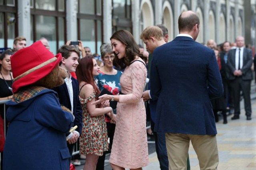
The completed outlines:
[[[134,40],[134,37],[129,31],[126,30],[119,30],[116,31],[111,39],[116,39],[120,41],[121,43],[126,45],[125,48],[125,55],[126,57],[123,57],[122,59],[118,59],[118,57],[115,54],[115,57],[113,59],[113,65],[117,68],[120,68],[120,70],[124,69],[126,66],[129,66],[131,61],[135,59],[135,56],[137,55],[140,57],[142,60],[147,61],[147,57],[145,57],[143,54],[140,54],[140,49],[137,45],[137,43]]]

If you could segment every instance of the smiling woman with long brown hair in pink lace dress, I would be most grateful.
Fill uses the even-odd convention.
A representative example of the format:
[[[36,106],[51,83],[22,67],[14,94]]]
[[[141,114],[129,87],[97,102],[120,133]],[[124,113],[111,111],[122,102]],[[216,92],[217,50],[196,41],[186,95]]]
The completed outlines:
[[[148,143],[146,135],[146,110],[142,92],[146,82],[146,57],[140,54],[132,34],[125,30],[115,32],[110,38],[115,58],[113,65],[125,68],[120,84],[120,95],[104,94],[97,104],[106,100],[116,100],[116,130],[110,165],[114,170],[142,170],[148,165]]]

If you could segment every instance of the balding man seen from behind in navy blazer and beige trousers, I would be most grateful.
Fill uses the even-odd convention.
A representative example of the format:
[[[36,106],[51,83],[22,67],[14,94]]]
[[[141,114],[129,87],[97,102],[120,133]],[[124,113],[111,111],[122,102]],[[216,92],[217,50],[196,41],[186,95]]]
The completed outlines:
[[[215,53],[197,43],[200,21],[196,13],[183,12],[180,34],[154,50],[150,71],[156,106],[156,132],[166,133],[169,169],[186,170],[190,141],[200,169],[218,166],[216,124],[210,99],[223,94]]]

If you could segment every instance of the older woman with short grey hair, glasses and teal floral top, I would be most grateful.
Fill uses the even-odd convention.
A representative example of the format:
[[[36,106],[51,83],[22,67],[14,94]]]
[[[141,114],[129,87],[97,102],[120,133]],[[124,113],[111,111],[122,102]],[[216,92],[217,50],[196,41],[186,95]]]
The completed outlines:
[[[113,95],[118,95],[119,92],[121,92],[120,77],[122,72],[113,68],[113,59],[115,55],[112,51],[111,44],[102,44],[100,47],[100,53],[104,66],[100,68],[100,74],[95,77],[97,85],[100,88],[100,91],[105,89],[105,91],[108,90],[108,92]],[[114,114],[116,114],[116,104],[114,104],[114,107],[110,104],[113,108]],[[107,123],[108,137],[110,138],[109,149],[111,150],[116,125],[114,124],[115,122],[112,122],[107,115],[105,120]],[[104,152],[103,156],[99,157],[96,170],[104,170],[105,154],[106,152]]]

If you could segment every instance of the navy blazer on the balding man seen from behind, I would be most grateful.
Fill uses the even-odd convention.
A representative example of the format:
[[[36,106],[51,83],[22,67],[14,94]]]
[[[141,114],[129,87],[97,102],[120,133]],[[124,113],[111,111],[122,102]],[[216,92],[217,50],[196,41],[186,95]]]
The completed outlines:
[[[158,102],[155,131],[216,135],[210,99],[223,94],[215,53],[190,37],[154,50],[150,91]]]

